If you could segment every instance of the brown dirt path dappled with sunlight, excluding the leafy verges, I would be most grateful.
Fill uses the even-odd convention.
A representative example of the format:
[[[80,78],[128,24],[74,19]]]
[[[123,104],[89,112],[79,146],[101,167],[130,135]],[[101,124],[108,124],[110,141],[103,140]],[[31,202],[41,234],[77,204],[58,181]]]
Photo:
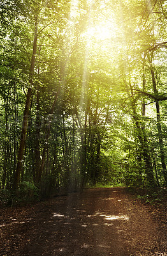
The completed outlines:
[[[124,188],[60,196],[34,211],[28,222],[13,255],[167,255],[161,252],[158,223]]]

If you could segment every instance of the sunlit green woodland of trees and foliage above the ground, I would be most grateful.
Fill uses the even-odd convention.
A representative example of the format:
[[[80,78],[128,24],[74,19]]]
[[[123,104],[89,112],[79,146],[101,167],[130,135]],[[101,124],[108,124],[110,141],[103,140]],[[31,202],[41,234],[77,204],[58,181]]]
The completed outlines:
[[[3,195],[166,186],[166,1],[1,0],[0,15]]]

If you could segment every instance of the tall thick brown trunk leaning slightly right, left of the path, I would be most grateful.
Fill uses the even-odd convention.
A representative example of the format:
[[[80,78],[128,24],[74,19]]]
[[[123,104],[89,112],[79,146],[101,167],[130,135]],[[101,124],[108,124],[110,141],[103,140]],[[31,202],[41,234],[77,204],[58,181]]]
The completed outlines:
[[[31,58],[31,67],[30,67],[30,87],[28,88],[27,92],[27,99],[25,103],[24,109],[24,117],[22,122],[22,132],[20,134],[20,147],[18,149],[18,156],[17,156],[17,167],[15,171],[15,176],[13,180],[13,190],[17,190],[18,184],[20,182],[20,173],[22,171],[22,163],[24,161],[24,148],[25,148],[25,141],[26,141],[26,134],[27,134],[27,127],[28,127],[28,120],[29,120],[29,108],[31,103],[31,92],[33,87],[33,74],[34,74],[34,65],[35,65],[35,58],[36,58],[36,49],[37,49],[37,29],[38,29],[38,22],[35,22],[34,28],[34,43],[33,43],[33,55]]]

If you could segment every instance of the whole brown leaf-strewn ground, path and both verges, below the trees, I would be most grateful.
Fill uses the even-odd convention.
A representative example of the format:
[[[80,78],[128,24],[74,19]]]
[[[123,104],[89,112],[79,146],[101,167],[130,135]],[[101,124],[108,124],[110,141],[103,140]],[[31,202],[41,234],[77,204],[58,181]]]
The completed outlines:
[[[165,256],[166,210],[166,202],[143,204],[125,188],[1,209],[0,255]]]

